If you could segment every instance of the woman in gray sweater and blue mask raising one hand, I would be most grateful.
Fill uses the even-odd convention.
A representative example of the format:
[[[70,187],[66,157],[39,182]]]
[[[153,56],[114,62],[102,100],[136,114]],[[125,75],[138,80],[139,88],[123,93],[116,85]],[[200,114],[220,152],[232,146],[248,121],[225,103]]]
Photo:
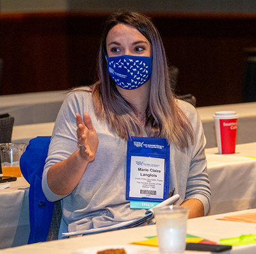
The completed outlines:
[[[118,63],[136,61],[141,68],[131,68],[131,78],[118,74]],[[61,200],[60,234],[145,214],[125,199],[129,135],[167,139],[170,188],[175,186],[180,205],[191,207],[189,218],[207,215],[211,191],[202,123],[193,106],[172,94],[163,43],[152,22],[140,13],[117,12],[102,35],[99,81],[68,94],[52,133],[42,187],[51,202]]]

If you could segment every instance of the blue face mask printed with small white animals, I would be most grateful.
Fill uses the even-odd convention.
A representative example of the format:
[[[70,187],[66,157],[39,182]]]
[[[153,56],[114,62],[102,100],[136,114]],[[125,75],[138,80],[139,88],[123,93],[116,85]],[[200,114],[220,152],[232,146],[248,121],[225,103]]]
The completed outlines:
[[[121,88],[136,89],[151,77],[151,60],[148,56],[114,56],[108,58],[108,72]]]

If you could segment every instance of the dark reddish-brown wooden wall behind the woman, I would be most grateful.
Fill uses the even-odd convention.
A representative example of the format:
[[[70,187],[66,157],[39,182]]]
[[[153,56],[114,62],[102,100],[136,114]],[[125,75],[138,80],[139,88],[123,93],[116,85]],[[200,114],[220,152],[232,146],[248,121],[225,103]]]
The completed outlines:
[[[108,13],[0,14],[0,93],[66,90],[96,79]],[[147,13],[179,68],[178,93],[196,106],[242,102],[245,48],[256,47],[256,15]]]

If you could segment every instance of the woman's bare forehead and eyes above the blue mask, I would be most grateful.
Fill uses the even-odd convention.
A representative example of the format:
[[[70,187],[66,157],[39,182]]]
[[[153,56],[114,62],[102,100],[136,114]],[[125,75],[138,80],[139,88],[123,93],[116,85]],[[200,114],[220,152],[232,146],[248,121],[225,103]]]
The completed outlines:
[[[150,42],[133,26],[118,24],[109,30],[106,38],[108,57],[151,56]]]

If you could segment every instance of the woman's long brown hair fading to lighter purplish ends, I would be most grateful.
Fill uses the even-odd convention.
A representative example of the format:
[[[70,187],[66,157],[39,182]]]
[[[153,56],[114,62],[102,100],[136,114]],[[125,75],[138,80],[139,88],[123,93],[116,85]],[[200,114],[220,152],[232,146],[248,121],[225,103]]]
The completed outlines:
[[[146,109],[146,122],[142,126],[136,117],[136,110],[116,89],[108,74],[106,60],[106,37],[117,24],[127,24],[138,29],[151,44],[152,77],[150,95]],[[177,105],[170,84],[170,75],[161,36],[151,20],[138,12],[119,11],[106,21],[99,51],[99,81],[93,85],[92,97],[95,112],[115,129],[120,138],[134,136],[166,138],[177,147],[188,147],[189,139],[194,143],[194,132],[187,116]]]

